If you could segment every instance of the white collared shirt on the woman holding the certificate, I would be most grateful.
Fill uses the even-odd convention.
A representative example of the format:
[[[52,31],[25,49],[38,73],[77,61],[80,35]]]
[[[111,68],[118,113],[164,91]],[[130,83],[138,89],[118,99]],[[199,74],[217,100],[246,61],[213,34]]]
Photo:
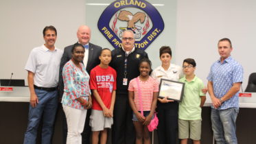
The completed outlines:
[[[151,73],[151,76],[159,82],[161,81],[161,78],[178,81],[181,77],[183,77],[183,70],[182,67],[176,64],[170,64],[170,67],[167,69],[167,71],[165,71],[162,66],[159,66],[154,69],[154,71]]]

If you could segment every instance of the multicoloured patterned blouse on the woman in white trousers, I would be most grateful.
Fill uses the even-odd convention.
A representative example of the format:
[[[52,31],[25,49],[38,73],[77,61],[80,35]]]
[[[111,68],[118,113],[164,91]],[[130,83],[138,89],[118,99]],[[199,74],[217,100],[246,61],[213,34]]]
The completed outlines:
[[[72,60],[69,60],[63,67],[64,93],[61,102],[65,106],[84,110],[85,107],[76,99],[82,97],[88,100],[88,96],[91,95],[90,76],[81,62],[80,66],[82,70],[76,67]]]

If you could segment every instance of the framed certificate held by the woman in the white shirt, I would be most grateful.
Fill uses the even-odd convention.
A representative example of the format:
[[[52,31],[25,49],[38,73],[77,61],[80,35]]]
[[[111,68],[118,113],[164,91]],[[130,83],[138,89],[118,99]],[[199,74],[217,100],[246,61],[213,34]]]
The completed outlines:
[[[183,97],[185,83],[176,82],[173,80],[161,79],[159,85],[159,98],[167,99],[174,101],[181,101]]]

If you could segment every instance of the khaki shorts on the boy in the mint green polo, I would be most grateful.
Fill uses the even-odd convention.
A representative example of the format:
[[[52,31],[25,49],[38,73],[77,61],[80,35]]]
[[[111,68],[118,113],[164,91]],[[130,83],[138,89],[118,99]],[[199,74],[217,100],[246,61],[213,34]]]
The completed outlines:
[[[201,139],[201,120],[178,119],[178,139]]]

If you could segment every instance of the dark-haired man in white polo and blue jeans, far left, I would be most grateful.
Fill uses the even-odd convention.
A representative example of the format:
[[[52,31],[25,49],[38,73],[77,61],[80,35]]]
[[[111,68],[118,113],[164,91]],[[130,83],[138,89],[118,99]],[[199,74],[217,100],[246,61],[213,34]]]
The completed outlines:
[[[45,44],[32,49],[25,65],[30,88],[30,112],[24,144],[35,144],[38,124],[43,117],[42,144],[51,143],[54,119],[58,108],[58,75],[63,51],[54,44],[57,31],[54,26],[43,29]]]

